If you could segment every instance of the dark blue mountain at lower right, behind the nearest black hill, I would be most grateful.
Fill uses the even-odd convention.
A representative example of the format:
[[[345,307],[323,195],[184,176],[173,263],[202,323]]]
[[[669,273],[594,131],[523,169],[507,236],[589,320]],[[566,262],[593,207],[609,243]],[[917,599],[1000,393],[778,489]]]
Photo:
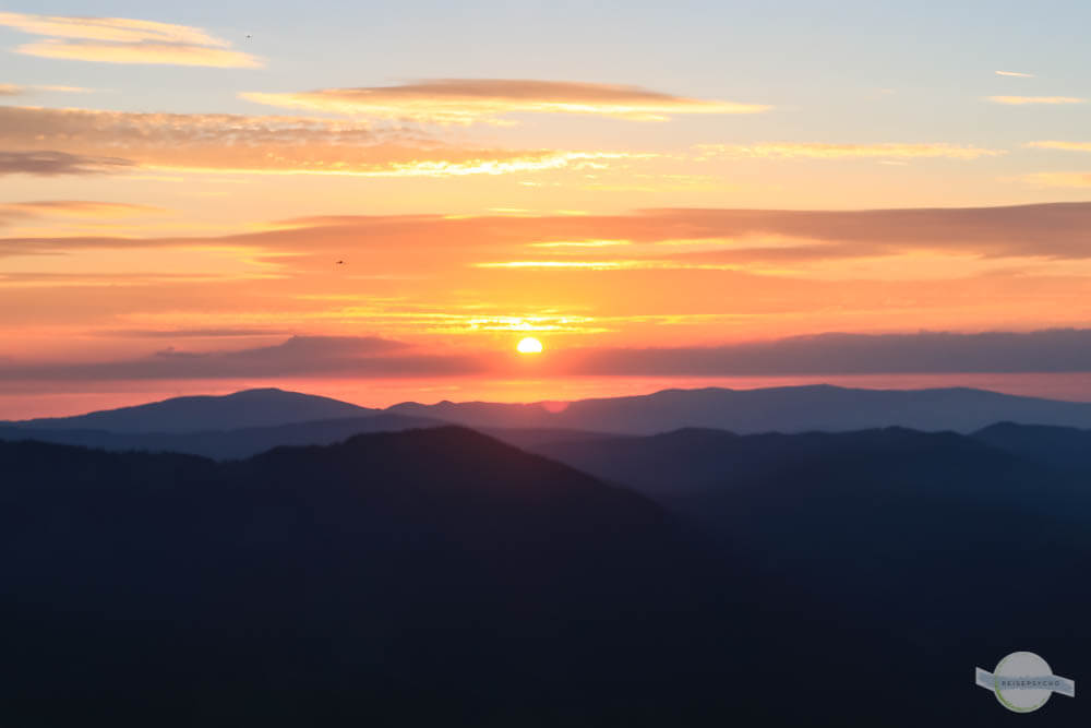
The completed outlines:
[[[875,725],[911,725],[911,715],[918,725],[999,725],[1007,717],[988,715],[987,694],[975,694],[968,665],[991,669],[1029,649],[1048,655],[1064,675],[1082,669],[1091,654],[1091,585],[1078,576],[1091,563],[1086,475],[973,438],[898,428],[683,430],[536,450],[633,485],[702,524],[767,583],[794,590],[793,604],[768,604],[766,617],[783,624],[768,648],[798,658],[795,651],[811,651],[808,690],[849,687],[852,697],[836,701],[846,716],[885,702],[890,714]],[[812,634],[795,611],[803,605]],[[874,676],[816,668],[829,668],[827,651],[841,651],[858,670],[873,660]],[[931,720],[920,704],[907,705],[915,699],[899,697],[914,680],[921,700],[936,708]],[[1055,699],[1042,719],[1072,725],[1076,711]]]

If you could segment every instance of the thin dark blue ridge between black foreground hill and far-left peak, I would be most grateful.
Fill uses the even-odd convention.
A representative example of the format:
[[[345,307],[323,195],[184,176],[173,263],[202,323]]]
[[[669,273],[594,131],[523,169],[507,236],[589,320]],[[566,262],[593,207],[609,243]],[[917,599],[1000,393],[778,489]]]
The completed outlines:
[[[56,442],[101,447],[115,452],[173,452],[215,460],[249,457],[278,445],[328,445],[367,432],[401,430],[445,425],[423,417],[379,414],[368,417],[295,422],[274,427],[199,432],[109,432],[106,430],[62,430],[0,426],[0,440]]]

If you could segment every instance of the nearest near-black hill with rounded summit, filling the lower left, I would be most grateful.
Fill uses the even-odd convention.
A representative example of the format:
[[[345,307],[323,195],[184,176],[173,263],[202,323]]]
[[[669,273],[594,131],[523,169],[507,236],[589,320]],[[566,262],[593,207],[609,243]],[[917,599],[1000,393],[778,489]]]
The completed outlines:
[[[723,563],[645,498],[472,431],[221,464],[3,442],[0,472],[3,725],[663,725],[723,702]]]

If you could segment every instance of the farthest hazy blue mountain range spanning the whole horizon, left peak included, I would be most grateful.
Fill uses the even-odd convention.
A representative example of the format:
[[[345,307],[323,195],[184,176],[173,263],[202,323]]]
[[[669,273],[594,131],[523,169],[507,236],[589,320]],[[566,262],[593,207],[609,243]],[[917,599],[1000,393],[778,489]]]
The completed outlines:
[[[757,390],[664,390],[572,403],[403,403],[385,410],[276,389],[164,402],[0,426],[109,432],[194,432],[274,427],[385,413],[479,428],[575,429],[656,434],[686,427],[755,432],[826,432],[904,427],[972,432],[996,422],[1091,428],[1091,403],[966,387],[863,390],[830,385]]]

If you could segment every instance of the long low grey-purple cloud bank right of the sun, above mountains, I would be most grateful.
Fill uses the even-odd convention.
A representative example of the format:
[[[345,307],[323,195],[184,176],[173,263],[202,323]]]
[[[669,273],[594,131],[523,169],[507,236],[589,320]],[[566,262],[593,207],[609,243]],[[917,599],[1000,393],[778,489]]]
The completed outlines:
[[[827,333],[771,342],[678,348],[555,351],[559,373],[783,375],[1091,371],[1091,330],[1029,333]]]

